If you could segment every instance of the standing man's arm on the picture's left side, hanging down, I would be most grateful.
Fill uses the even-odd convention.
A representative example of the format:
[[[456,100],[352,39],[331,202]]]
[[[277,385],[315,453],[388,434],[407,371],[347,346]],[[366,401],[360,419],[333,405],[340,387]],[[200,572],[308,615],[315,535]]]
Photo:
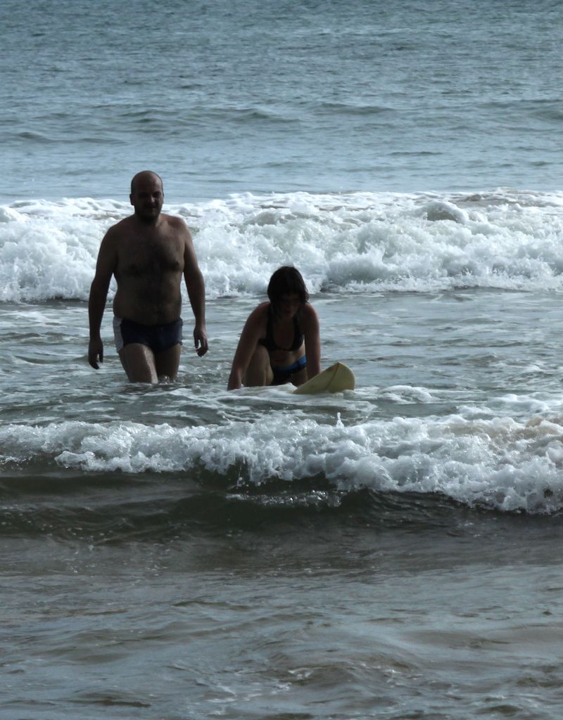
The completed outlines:
[[[113,228],[107,231],[99,246],[96,263],[96,274],[90,286],[88,300],[88,319],[90,325],[90,341],[88,343],[88,362],[93,368],[99,369],[98,361],[104,361],[104,345],[100,336],[102,317],[104,315],[107,291],[110,287],[112,274],[117,265]]]

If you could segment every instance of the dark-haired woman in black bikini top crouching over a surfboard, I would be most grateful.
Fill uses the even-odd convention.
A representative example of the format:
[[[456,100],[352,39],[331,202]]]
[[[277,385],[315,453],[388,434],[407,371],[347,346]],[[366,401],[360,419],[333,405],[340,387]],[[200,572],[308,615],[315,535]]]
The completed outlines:
[[[250,313],[234,354],[228,390],[242,384],[302,385],[321,372],[319,318],[301,273],[284,266],[267,289],[270,302]]]

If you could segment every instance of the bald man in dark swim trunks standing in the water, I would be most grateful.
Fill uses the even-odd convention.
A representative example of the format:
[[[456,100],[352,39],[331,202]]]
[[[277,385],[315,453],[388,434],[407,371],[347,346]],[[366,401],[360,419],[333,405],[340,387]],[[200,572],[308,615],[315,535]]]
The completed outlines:
[[[104,359],[99,330],[112,275],[115,346],[130,382],[174,379],[182,344],[182,274],[190,298],[199,356],[208,351],[205,284],[192,236],[180,217],[161,213],[164,192],[156,173],[143,171],[131,181],[133,215],[113,225],[99,248],[88,305],[88,361]]]

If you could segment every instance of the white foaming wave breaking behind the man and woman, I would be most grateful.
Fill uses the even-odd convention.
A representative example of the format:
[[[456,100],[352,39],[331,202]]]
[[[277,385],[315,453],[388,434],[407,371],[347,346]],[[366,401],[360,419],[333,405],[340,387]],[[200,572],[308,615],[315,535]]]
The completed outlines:
[[[562,287],[563,193],[244,194],[165,207],[192,229],[208,297],[262,294],[282,264],[311,293]],[[0,207],[0,300],[86,300],[112,200]],[[113,292],[113,289],[112,289]]]

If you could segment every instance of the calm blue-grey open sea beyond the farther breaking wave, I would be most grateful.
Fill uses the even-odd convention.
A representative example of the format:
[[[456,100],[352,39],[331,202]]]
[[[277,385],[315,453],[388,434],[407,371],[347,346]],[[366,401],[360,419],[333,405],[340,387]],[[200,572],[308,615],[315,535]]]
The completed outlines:
[[[0,199],[555,189],[557,2],[4,0]]]

